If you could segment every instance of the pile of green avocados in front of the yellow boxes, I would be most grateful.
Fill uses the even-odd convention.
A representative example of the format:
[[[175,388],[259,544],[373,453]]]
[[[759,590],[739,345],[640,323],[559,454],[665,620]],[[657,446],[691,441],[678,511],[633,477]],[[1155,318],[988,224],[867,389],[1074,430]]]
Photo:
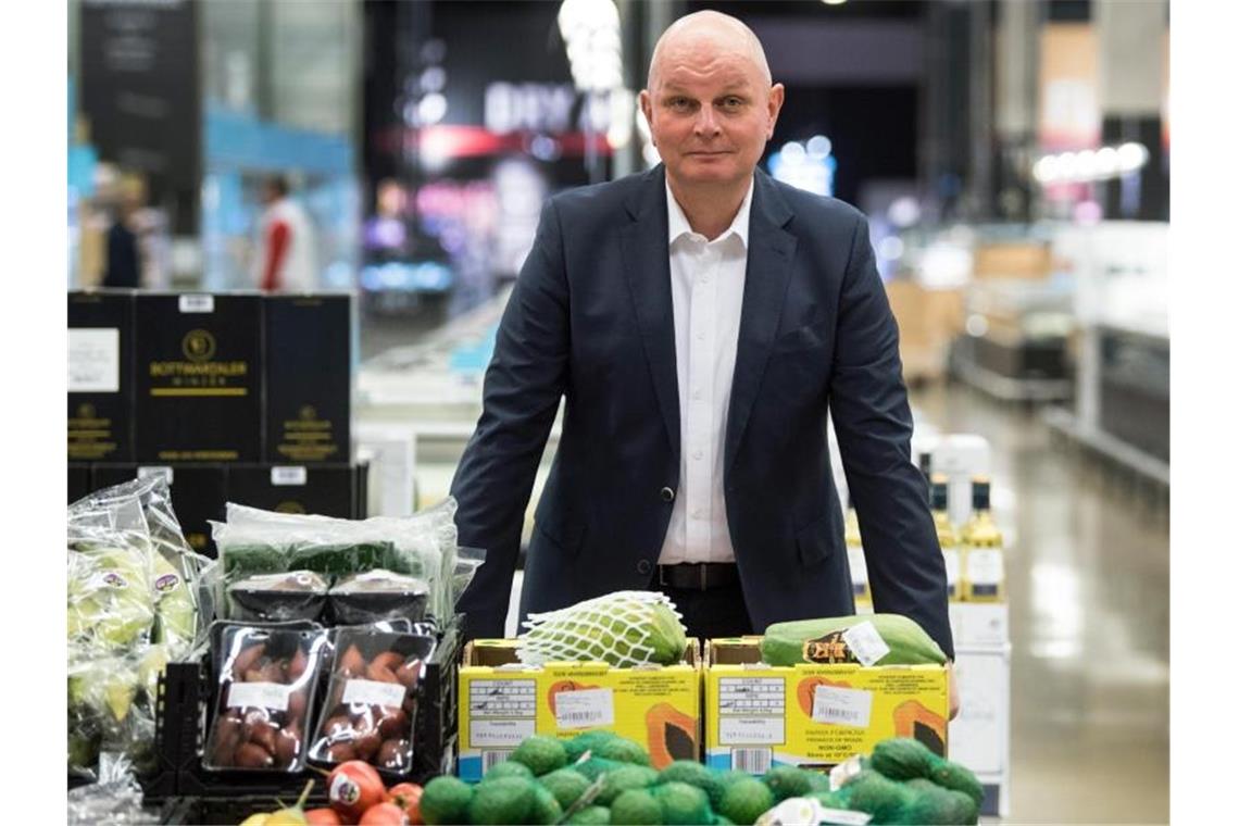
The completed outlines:
[[[838,791],[818,772],[779,765],[764,776],[676,760],[658,772],[639,744],[610,732],[530,737],[482,781],[436,778],[421,796],[426,824],[753,824],[789,798],[864,811],[881,824],[975,824],[984,796],[973,773],[912,739],[878,743]],[[566,820],[565,820],[566,815]]]

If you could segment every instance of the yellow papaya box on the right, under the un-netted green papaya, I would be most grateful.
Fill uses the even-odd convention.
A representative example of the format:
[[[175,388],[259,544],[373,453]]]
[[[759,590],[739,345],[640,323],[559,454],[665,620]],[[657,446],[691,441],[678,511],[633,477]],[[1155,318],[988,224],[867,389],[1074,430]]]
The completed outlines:
[[[771,666],[760,637],[712,639],[705,651],[705,763],[763,774],[830,768],[888,737],[947,753],[940,665]]]

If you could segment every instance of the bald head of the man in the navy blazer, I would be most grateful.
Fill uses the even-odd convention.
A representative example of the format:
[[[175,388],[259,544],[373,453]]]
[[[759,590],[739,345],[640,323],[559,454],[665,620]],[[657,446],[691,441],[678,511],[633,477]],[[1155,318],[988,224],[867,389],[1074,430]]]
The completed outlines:
[[[663,32],[641,110],[673,188],[738,186],[752,176],[783,105],[761,41],[735,17],[699,11]]]

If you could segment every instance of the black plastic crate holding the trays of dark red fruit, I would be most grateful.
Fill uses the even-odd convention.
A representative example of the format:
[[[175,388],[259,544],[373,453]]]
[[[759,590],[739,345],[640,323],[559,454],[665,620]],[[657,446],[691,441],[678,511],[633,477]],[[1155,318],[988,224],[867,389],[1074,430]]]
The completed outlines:
[[[413,768],[399,779],[384,774],[388,785],[403,780],[425,783],[453,768],[462,632],[463,618],[457,617],[440,635],[439,646],[426,663],[418,684]],[[142,781],[146,806],[161,806],[166,822],[239,822],[255,811],[270,811],[276,799],[292,802],[307,780],[318,780],[310,805],[326,799],[323,776],[315,768],[289,774],[203,769],[213,690],[208,663],[171,663],[160,679],[155,712],[159,765]]]

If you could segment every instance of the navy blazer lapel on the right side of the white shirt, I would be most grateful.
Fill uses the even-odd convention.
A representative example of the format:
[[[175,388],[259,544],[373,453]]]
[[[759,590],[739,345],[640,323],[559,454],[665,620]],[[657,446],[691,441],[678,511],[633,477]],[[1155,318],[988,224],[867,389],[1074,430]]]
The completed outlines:
[[[748,263],[740,311],[736,372],[731,381],[731,406],[724,446],[724,472],[731,468],[736,448],[748,424],[769,359],[774,332],[783,315],[783,298],[795,259],[795,237],[783,229],[792,211],[771,178],[757,171],[748,224]]]

